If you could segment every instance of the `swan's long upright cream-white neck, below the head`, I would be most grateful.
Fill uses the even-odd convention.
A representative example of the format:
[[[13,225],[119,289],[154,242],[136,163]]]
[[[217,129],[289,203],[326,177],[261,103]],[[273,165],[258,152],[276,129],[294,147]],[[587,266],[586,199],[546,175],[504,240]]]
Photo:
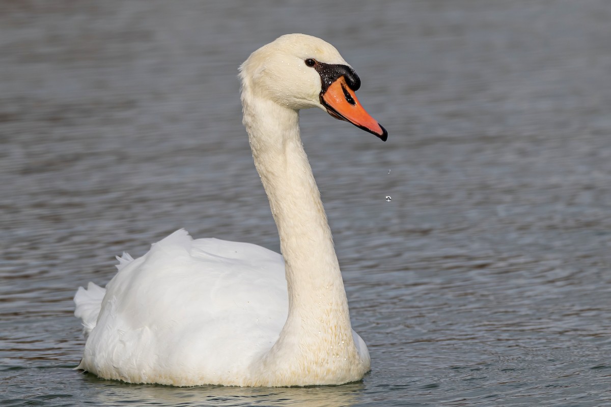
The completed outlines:
[[[331,229],[299,136],[299,114],[247,90],[243,110],[255,167],[280,235],[288,285],[288,319],[266,362],[273,369],[295,358],[326,369],[342,360],[354,363],[358,355],[348,301]]]

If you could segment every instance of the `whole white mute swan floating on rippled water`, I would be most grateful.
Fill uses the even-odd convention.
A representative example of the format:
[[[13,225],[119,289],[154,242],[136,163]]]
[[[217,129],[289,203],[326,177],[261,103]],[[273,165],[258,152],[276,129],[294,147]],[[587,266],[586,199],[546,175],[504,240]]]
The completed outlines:
[[[386,140],[354,95],[359,77],[320,38],[290,34],[240,67],[243,123],[280,235],[280,254],[192,240],[184,230],[118,258],[102,289],[75,295],[87,337],[77,369],[174,386],[307,386],[361,380],[365,342],[348,301],[320,193],[299,136],[319,107]]]

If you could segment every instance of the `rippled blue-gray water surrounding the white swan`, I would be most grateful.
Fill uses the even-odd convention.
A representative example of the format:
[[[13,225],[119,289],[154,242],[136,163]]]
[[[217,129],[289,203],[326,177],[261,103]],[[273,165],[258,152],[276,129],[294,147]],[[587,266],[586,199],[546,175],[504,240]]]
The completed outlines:
[[[390,134],[302,113],[371,372],[241,389],[71,370],[71,297],[116,254],[178,228],[278,250],[236,68],[288,32],[337,46]],[[1,2],[0,403],[610,405],[610,38],[605,0]]]

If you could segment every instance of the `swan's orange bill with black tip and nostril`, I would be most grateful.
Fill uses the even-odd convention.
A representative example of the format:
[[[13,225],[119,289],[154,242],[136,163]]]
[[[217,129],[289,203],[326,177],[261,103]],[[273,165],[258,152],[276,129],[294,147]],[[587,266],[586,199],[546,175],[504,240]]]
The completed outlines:
[[[327,112],[339,120],[349,121],[371,134],[377,135],[383,141],[388,138],[388,132],[378,121],[360,106],[354,91],[346,84],[343,76],[338,77],[320,97]]]

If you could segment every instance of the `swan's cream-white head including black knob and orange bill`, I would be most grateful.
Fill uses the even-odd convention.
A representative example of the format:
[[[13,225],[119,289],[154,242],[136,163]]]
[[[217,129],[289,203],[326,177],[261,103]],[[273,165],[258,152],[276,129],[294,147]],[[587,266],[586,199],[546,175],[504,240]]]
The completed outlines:
[[[243,100],[263,98],[293,110],[318,107],[386,141],[388,133],[360,105],[360,79],[337,49],[320,38],[287,34],[240,66]]]

